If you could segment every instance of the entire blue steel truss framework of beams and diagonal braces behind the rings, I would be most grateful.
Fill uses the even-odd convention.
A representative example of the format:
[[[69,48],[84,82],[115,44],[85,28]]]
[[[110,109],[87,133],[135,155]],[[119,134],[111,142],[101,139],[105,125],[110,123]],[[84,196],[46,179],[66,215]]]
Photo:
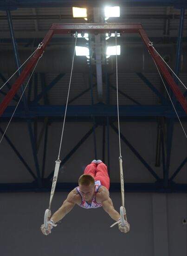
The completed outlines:
[[[78,5],[82,5],[84,1],[76,1],[76,0],[0,0],[0,8],[17,8],[17,7],[64,7],[64,6],[72,6],[72,4],[75,4],[77,2]],[[101,4],[101,1],[92,1],[88,0],[85,1],[87,5],[93,5],[99,6]],[[175,73],[178,74],[179,72],[179,63],[181,58],[181,44],[182,44],[182,31],[183,31],[183,22],[184,22],[184,13],[185,13],[185,7],[187,6],[185,0],[121,0],[119,1],[122,5],[125,4],[127,6],[174,6],[177,8],[181,8],[181,19],[180,19],[180,26],[179,26],[179,37],[178,37],[178,43],[177,43],[177,58],[176,58],[176,65],[175,65]],[[11,24],[11,15],[10,12],[7,12],[9,17],[9,22]],[[17,54],[16,49],[16,43],[15,38],[13,35],[13,27],[10,27],[11,36],[14,44],[14,53],[16,57],[17,64],[19,66],[19,57]],[[32,171],[32,169],[29,167],[29,165],[26,163],[26,161],[22,158],[22,156],[19,154],[18,150],[15,148],[13,143],[8,139],[7,136],[5,136],[6,141],[9,143],[10,147],[13,149],[15,154],[19,157],[19,160],[25,165],[26,169],[29,171],[29,173],[32,175],[34,181],[31,183],[18,183],[18,184],[0,184],[0,192],[6,192],[6,191],[49,191],[51,189],[51,177],[53,173],[51,173],[47,179],[45,179],[45,157],[46,157],[46,148],[47,148],[47,135],[48,135],[48,124],[49,121],[48,117],[51,117],[52,120],[56,120],[55,118],[58,118],[62,115],[64,115],[64,108],[65,106],[51,106],[48,105],[49,101],[47,98],[47,92],[55,86],[55,84],[59,81],[59,79],[62,78],[64,74],[59,74],[48,86],[45,87],[45,74],[40,74],[41,78],[41,84],[43,91],[37,95],[37,82],[38,82],[38,74],[35,75],[35,98],[33,102],[30,102],[30,104],[26,104],[26,102],[22,102],[22,104],[19,106],[15,113],[15,118],[13,121],[18,121],[18,118],[20,120],[25,120],[28,122],[28,128],[32,143],[32,151],[33,151],[33,157],[35,159],[35,168],[37,172],[37,177]],[[142,158],[142,156],[137,152],[137,150],[132,146],[130,141],[127,141],[127,139],[122,135],[122,140],[128,145],[128,147],[134,152],[136,157],[144,164],[144,166],[148,169],[148,171],[155,177],[156,182],[155,183],[127,183],[125,184],[125,191],[127,192],[164,192],[164,193],[186,193],[187,192],[187,185],[186,184],[176,184],[173,182],[173,179],[180,170],[184,167],[184,165],[187,162],[187,158],[185,158],[182,163],[179,165],[179,167],[176,169],[174,174],[169,179],[169,166],[170,166],[170,158],[171,158],[171,146],[172,146],[172,137],[173,137],[173,127],[174,127],[174,121],[176,121],[176,115],[175,112],[170,104],[170,102],[166,101],[166,99],[160,94],[160,92],[154,87],[153,84],[148,81],[148,79],[143,74],[138,74],[139,77],[144,81],[147,86],[161,99],[161,102],[164,104],[161,105],[140,105],[139,102],[135,101],[129,95],[124,94],[123,92],[119,92],[123,94],[124,97],[129,98],[129,100],[133,101],[136,105],[130,105],[130,106],[120,106],[120,117],[123,120],[123,118],[135,118],[136,121],[141,121],[141,119],[137,119],[138,117],[164,117],[166,120],[168,120],[168,130],[167,130],[167,154],[165,155],[165,149],[164,149],[164,139],[163,139],[163,133],[161,133],[161,152],[162,152],[162,165],[163,165],[163,176],[164,179],[160,179],[160,177],[156,174],[155,170],[150,168],[148,163],[145,159]],[[4,79],[1,76],[1,79]],[[99,124],[103,126],[103,157],[105,153],[105,126],[107,126],[107,141],[108,141],[108,167],[110,170],[110,136],[109,136],[109,126],[111,125],[114,130],[116,128],[114,127],[112,120],[116,117],[117,109],[116,106],[110,105],[110,91],[109,88],[111,87],[108,79],[108,74],[106,72],[105,68],[105,83],[107,85],[107,104],[94,104],[93,101],[93,87],[95,85],[92,84],[93,80],[93,72],[90,65],[90,88],[87,90],[84,90],[81,94],[78,94],[75,98],[71,100],[74,101],[77,98],[81,97],[90,90],[91,93],[91,102],[92,105],[88,106],[76,106],[76,105],[69,105],[67,110],[67,117],[79,117],[81,118],[90,118],[92,116],[92,123],[93,128],[90,129],[90,131],[87,132],[87,134],[84,135],[84,137],[77,143],[77,145],[71,149],[70,153],[63,159],[63,163],[66,162],[79,148],[82,143],[93,133],[94,137],[94,148],[95,148],[95,156],[97,158],[97,148],[96,148],[96,135],[95,135],[95,129],[98,126],[98,120]],[[115,88],[113,88],[115,89]],[[31,90],[29,90],[28,93],[28,102],[30,101],[30,94]],[[186,95],[187,93],[185,93]],[[45,105],[39,105],[38,101],[44,97]],[[18,96],[16,95],[14,98],[15,101],[18,100]],[[179,105],[177,102],[175,102],[177,112],[179,116],[182,119],[186,119],[186,114],[184,110],[181,108],[181,105]],[[9,118],[14,110],[15,107],[10,106],[6,108],[6,111],[1,117],[1,122],[6,121],[7,118]],[[43,165],[42,165],[42,173],[40,175],[39,171],[39,165],[37,160],[37,154],[36,154],[36,141],[37,141],[37,119],[39,118],[45,118],[46,125],[45,125],[45,147],[44,147],[44,153],[43,153]],[[31,121],[35,122],[35,132],[33,136],[32,128],[31,128]],[[0,132],[3,133],[2,129],[0,129]],[[41,177],[40,177],[41,176]],[[75,187],[76,183],[58,183],[57,185],[57,191],[63,191],[63,190],[70,190],[73,187]],[[112,183],[111,184],[111,191],[120,191],[120,184]]]

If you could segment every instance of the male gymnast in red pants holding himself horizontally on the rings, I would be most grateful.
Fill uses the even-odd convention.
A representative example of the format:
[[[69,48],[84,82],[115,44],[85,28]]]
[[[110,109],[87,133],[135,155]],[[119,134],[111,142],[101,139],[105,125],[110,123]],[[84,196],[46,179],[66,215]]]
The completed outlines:
[[[49,219],[47,229],[45,229],[44,224],[41,225],[41,231],[44,235],[49,235],[52,228],[57,226],[55,223],[63,219],[73,209],[75,204],[84,209],[103,206],[103,209],[109,216],[118,222],[119,230],[123,233],[129,232],[130,225],[127,222],[126,214],[124,215],[125,226],[122,227],[121,217],[114,209],[110,199],[110,178],[107,166],[101,160],[93,160],[86,166],[84,174],[78,179],[78,185],[69,193],[62,206]]]

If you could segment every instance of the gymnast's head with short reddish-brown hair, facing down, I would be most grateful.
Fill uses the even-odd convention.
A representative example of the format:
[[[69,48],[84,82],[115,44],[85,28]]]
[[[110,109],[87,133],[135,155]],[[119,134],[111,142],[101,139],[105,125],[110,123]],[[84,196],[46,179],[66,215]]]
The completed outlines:
[[[78,179],[80,193],[85,201],[92,199],[95,191],[95,180],[89,174],[83,174]]]

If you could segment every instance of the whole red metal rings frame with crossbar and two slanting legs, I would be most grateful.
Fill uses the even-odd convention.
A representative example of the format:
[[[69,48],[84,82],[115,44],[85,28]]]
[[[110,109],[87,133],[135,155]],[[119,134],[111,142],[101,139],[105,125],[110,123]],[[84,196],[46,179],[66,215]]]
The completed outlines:
[[[23,69],[22,73],[19,75],[18,79],[14,83],[13,87],[10,89],[8,94],[6,94],[4,100],[0,104],[0,115],[3,114],[4,110],[8,106],[9,102],[13,99],[16,92],[19,90],[21,84],[26,79],[28,74],[31,72],[34,65],[37,63],[39,57],[43,54],[45,47],[52,39],[53,34],[74,34],[78,33],[92,33],[92,34],[102,34],[102,33],[138,33],[146,47],[148,52],[153,57],[157,67],[159,68],[161,74],[164,76],[169,86],[173,90],[176,98],[181,103],[182,108],[187,114],[187,101],[174,79],[170,75],[166,65],[162,61],[161,57],[155,52],[154,47],[150,44],[147,34],[142,28],[140,23],[68,23],[68,24],[52,24],[52,27],[46,34],[44,40],[42,41],[43,46],[38,48],[35,54],[32,56],[31,60],[27,63],[26,67]]]

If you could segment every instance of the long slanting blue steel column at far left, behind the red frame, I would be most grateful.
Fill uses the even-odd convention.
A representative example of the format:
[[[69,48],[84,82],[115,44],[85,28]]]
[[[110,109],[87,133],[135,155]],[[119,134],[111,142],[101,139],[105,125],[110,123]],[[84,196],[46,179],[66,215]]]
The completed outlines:
[[[11,38],[12,38],[12,43],[13,43],[13,50],[14,50],[14,54],[15,54],[16,65],[19,68],[20,67],[19,54],[18,54],[17,44],[16,44],[16,40],[15,40],[15,36],[14,36],[13,23],[12,23],[12,19],[11,19],[10,10],[7,10],[6,14],[7,14],[7,18],[8,18],[8,25],[10,28],[10,33],[11,33]],[[21,74],[20,69],[18,70],[18,73],[19,73],[19,75]],[[21,87],[21,90],[23,91],[23,87]],[[28,113],[28,105],[26,102],[25,94],[23,94],[23,103],[24,103],[25,112]],[[29,131],[29,136],[30,136],[31,145],[32,145],[32,154],[34,157],[34,163],[35,163],[36,172],[37,172],[37,176],[38,176],[38,185],[39,185],[39,187],[41,187],[41,177],[40,177],[40,173],[39,173],[38,157],[36,154],[36,144],[34,143],[34,137],[33,137],[33,133],[32,133],[32,126],[31,126],[30,119],[27,119],[27,127],[28,127],[28,131]]]

